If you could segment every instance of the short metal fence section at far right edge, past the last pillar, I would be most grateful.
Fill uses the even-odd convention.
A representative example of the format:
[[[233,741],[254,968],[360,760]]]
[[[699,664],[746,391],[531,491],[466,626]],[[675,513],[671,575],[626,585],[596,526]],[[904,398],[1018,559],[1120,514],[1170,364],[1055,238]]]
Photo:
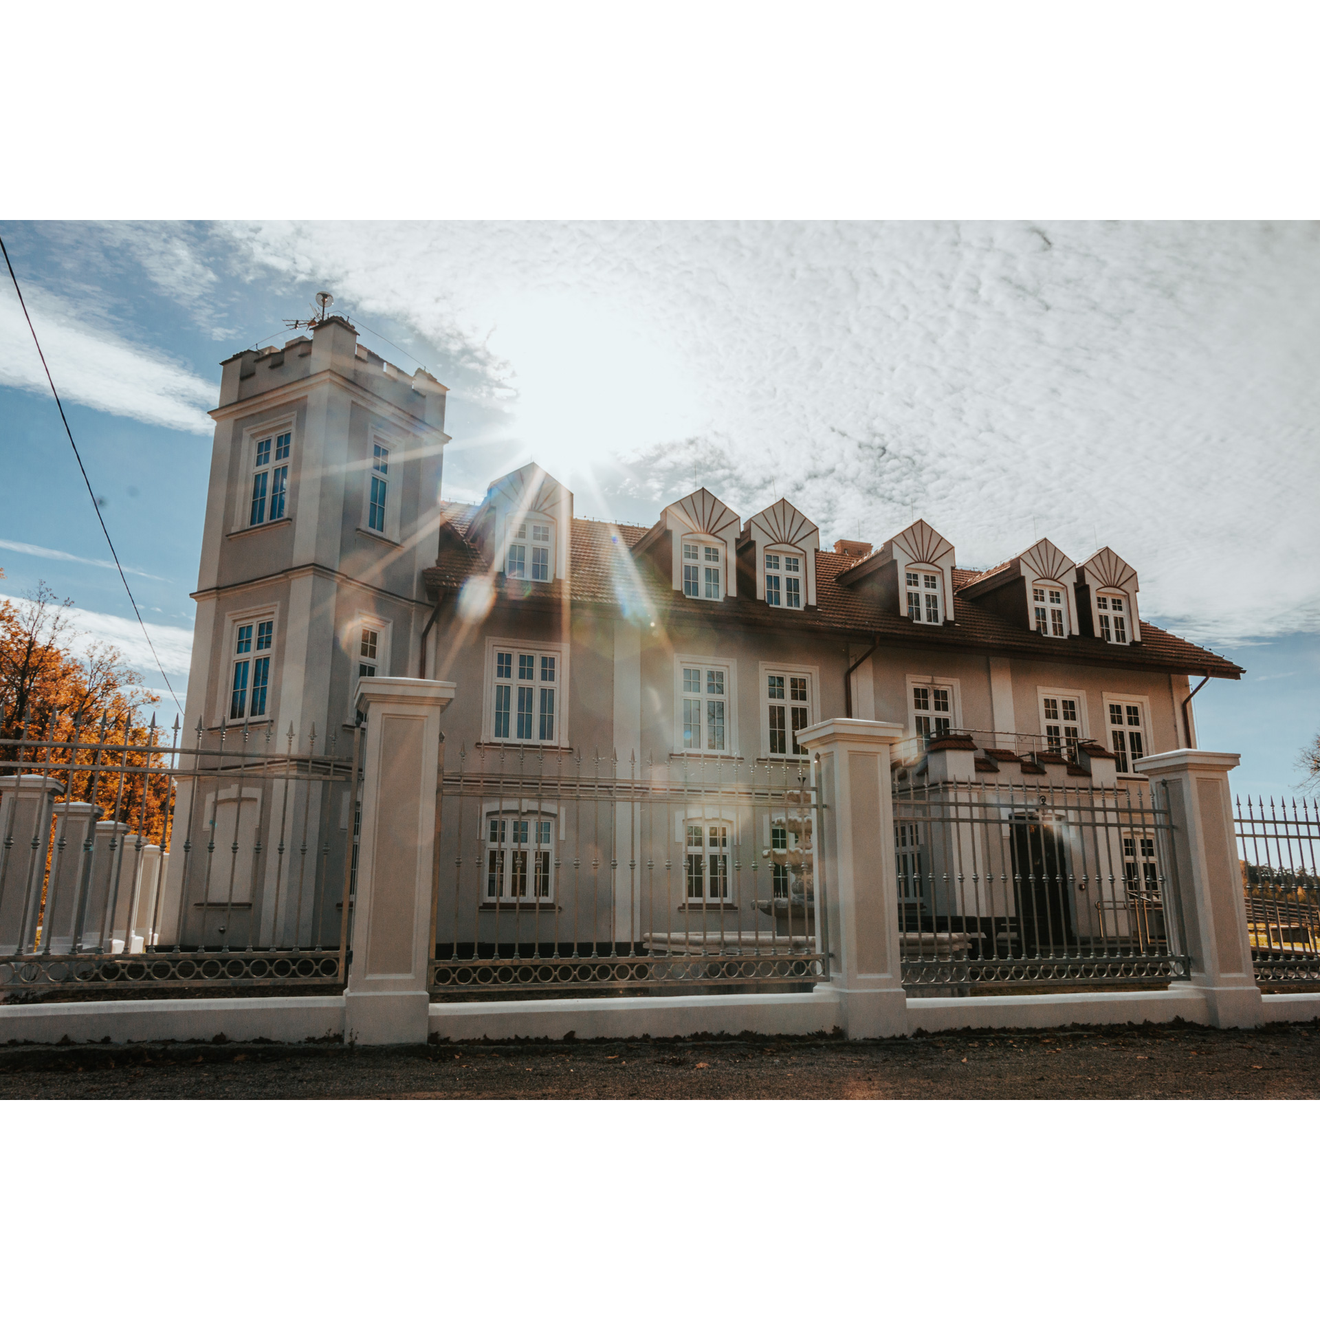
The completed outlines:
[[[1257,981],[1320,981],[1320,804],[1234,803]]]

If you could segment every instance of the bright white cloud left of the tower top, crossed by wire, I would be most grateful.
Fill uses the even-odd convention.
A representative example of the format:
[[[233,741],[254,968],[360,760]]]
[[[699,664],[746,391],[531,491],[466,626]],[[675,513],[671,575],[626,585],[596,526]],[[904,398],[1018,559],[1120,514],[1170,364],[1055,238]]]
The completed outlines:
[[[65,403],[172,430],[211,433],[214,424],[206,416],[206,409],[215,407],[211,381],[193,375],[164,351],[131,343],[84,306],[38,285],[28,282],[22,296]],[[0,293],[0,384],[50,392],[13,285]]]

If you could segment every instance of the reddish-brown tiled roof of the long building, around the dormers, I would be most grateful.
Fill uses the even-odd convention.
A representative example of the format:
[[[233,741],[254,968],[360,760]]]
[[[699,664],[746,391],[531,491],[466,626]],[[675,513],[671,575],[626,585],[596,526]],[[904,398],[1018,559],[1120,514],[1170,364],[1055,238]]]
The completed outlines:
[[[475,506],[442,506],[450,532],[459,535],[441,537],[440,558],[433,569],[426,569],[422,574],[432,599],[441,590],[455,591],[469,578],[491,573],[490,562],[465,539],[475,512]],[[561,601],[568,595],[582,605],[630,609],[657,620],[684,618],[709,620],[714,614],[722,624],[783,628],[792,623],[805,631],[861,635],[896,647],[924,649],[949,647],[1038,659],[1067,659],[1073,664],[1109,668],[1159,669],[1179,675],[1209,673],[1221,678],[1238,678],[1243,673],[1230,660],[1172,632],[1166,632],[1144,619],[1142,642],[1127,647],[1126,651],[1119,651],[1098,638],[1043,638],[1036,632],[1015,627],[1007,619],[961,594],[970,582],[985,578],[998,569],[986,573],[972,569],[953,570],[954,622],[942,627],[912,623],[903,615],[880,609],[870,595],[840,585],[836,579],[847,569],[857,568],[858,561],[847,554],[836,554],[833,550],[816,552],[817,609],[814,610],[796,614],[771,609],[764,601],[744,598],[721,602],[692,601],[673,591],[671,583],[660,578],[649,557],[632,556],[632,546],[649,531],[647,527],[576,517],[570,533],[572,583],[566,587],[562,579],[506,581],[499,589],[500,594],[510,601],[545,603]]]

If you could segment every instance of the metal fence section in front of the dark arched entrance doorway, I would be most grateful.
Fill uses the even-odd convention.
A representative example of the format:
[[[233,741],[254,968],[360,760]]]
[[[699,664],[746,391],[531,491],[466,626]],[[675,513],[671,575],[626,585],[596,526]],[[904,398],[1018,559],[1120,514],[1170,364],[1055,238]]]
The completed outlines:
[[[899,788],[904,985],[1185,979],[1168,804],[1154,792]]]

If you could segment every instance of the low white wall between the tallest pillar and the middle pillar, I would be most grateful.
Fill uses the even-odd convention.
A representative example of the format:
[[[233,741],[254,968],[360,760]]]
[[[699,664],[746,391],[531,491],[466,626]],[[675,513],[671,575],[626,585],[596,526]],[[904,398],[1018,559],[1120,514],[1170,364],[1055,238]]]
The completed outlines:
[[[809,1036],[840,1026],[838,994],[673,995],[643,999],[546,999],[536,1003],[433,1003],[430,1034],[442,1040],[578,1040],[755,1031]]]

